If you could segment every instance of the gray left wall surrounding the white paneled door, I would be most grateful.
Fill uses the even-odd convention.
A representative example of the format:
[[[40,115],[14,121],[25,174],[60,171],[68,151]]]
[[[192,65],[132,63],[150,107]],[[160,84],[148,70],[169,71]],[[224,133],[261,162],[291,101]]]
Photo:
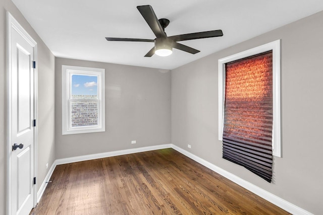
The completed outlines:
[[[10,0],[0,0],[0,214],[6,213],[7,179],[7,15],[9,11],[38,45],[38,174],[37,190],[55,160],[55,57]]]

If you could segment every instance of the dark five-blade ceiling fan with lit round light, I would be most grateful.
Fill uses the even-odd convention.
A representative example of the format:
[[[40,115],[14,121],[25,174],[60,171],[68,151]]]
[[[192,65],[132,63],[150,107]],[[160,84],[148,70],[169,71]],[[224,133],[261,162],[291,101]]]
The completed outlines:
[[[167,36],[165,28],[169,25],[168,19],[157,19],[152,7],[150,5],[137,6],[138,11],[146,20],[147,24],[155,34],[155,39],[134,39],[134,38],[115,38],[105,37],[108,41],[135,41],[135,42],[154,42],[154,47],[148,51],[145,57],[151,57],[153,54],[159,56],[168,56],[172,54],[173,48],[180,49],[192,54],[200,52],[194,48],[178,43],[178,41],[194,40],[208,37],[223,36],[222,30],[203,31],[190,34],[180,34],[175,36]]]

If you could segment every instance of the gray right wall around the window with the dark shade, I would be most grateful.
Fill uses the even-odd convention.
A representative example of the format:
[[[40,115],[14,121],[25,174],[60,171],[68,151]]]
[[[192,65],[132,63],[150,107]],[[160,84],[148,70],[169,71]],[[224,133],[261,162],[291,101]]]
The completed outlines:
[[[323,211],[323,12],[172,70],[172,143],[314,214]],[[224,32],[225,35],[225,32]],[[218,59],[282,39],[282,158],[274,182],[222,159]],[[187,148],[187,144],[192,146]]]

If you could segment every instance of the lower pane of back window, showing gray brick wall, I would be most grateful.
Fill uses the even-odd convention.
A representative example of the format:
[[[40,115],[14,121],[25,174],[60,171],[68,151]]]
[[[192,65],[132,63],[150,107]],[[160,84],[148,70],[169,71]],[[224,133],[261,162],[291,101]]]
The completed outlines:
[[[71,126],[98,125],[98,100],[72,100]]]

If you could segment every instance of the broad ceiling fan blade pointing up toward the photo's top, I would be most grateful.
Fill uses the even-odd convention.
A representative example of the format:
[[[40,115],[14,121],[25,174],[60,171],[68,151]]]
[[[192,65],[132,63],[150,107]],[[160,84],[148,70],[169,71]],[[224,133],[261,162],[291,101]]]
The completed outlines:
[[[166,34],[150,5],[137,6],[137,9],[157,38],[166,37]]]

